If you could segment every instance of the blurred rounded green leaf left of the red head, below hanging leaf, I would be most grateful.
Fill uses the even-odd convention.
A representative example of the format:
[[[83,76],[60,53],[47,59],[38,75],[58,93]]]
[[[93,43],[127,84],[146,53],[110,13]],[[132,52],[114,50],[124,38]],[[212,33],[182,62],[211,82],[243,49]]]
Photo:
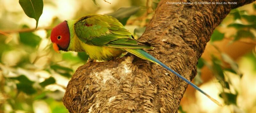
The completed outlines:
[[[28,26],[23,25],[22,28],[28,28]],[[20,42],[25,45],[36,47],[40,43],[40,41],[41,41],[41,38],[32,32],[20,33]]]

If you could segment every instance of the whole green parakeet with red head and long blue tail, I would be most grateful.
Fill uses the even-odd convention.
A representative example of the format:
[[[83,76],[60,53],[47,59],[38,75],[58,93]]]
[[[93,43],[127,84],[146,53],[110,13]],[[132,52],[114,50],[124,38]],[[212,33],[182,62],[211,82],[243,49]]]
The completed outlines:
[[[124,52],[129,52],[141,59],[149,60],[168,69],[213,102],[221,105],[203,90],[162,62],[145,52],[153,49],[148,43],[140,42],[124,26],[111,16],[90,14],[77,20],[67,20],[52,29],[53,48],[62,51],[86,52],[92,60],[112,60]]]

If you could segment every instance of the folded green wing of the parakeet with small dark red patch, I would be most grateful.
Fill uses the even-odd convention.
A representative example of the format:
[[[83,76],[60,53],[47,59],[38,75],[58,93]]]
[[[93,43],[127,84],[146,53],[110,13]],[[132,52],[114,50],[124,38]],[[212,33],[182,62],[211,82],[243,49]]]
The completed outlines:
[[[77,37],[88,45],[116,48],[152,48],[133,39],[132,33],[116,19],[106,15],[87,15],[75,23]]]

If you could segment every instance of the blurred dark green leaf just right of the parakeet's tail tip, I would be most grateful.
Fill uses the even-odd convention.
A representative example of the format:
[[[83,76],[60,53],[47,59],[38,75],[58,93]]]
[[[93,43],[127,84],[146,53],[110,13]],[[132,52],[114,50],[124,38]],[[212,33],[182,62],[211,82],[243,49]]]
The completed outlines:
[[[225,104],[227,104],[227,105],[235,104],[236,105],[237,94],[235,95],[232,93],[222,92],[219,96],[224,99]]]

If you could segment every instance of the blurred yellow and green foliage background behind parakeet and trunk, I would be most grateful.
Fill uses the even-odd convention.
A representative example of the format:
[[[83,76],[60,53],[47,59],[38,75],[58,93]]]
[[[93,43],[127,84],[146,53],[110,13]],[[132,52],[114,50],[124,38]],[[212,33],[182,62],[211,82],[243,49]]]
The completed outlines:
[[[67,113],[65,88],[85,53],[55,53],[53,26],[86,14],[118,18],[139,38],[153,16],[158,0],[43,0],[36,20],[22,10],[19,0],[0,0],[0,113]],[[121,9],[120,9],[121,8]],[[119,9],[119,10],[118,10]],[[256,2],[231,11],[215,29],[193,80],[225,103],[219,107],[188,86],[180,113],[256,112]]]

